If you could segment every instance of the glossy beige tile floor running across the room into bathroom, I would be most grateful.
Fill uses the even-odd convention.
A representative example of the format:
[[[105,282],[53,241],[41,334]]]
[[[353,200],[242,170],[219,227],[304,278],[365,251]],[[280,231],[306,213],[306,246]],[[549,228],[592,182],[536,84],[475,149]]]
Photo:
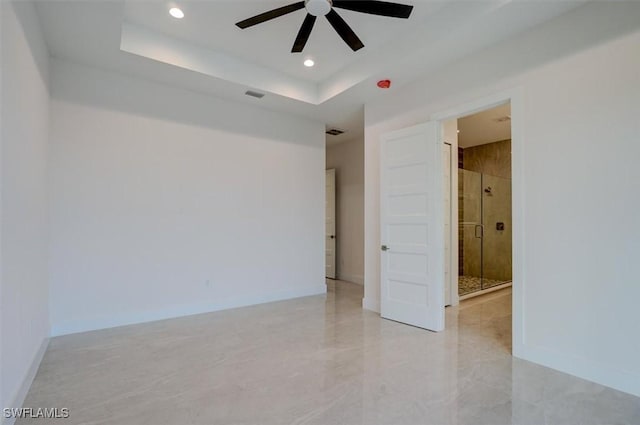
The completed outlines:
[[[640,424],[640,399],[514,359],[511,290],[432,333],[361,309],[362,287],[54,338],[38,424]]]

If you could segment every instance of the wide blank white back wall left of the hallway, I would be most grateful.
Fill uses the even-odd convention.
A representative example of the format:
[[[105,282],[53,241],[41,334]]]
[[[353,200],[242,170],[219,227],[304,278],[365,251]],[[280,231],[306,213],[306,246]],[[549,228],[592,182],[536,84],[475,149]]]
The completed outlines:
[[[52,66],[54,335],[325,292],[324,125]]]

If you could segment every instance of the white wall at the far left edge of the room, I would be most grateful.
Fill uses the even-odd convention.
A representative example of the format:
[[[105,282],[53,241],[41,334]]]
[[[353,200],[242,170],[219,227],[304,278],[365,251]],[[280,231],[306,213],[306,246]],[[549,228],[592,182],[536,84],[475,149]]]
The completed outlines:
[[[49,335],[46,259],[49,55],[32,4],[2,2],[0,8],[0,406],[19,407]]]

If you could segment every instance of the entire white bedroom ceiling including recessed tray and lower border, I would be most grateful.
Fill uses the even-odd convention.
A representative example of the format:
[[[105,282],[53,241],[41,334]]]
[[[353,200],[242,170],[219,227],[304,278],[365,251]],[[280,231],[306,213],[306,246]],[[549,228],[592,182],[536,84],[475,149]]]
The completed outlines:
[[[167,14],[170,1],[40,1],[38,12],[54,57],[320,120],[346,130],[335,142],[363,136],[366,102],[583,3],[399,1],[415,6],[410,19],[338,9],[365,44],[355,53],[322,18],[305,51],[289,53],[304,10],[234,25],[291,0],[180,1],[182,20]]]

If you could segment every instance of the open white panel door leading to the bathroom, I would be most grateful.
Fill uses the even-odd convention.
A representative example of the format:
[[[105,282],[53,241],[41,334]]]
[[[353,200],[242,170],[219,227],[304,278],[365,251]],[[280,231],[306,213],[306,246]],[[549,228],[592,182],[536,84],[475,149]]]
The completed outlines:
[[[442,142],[434,122],[381,136],[381,315],[444,329]]]

